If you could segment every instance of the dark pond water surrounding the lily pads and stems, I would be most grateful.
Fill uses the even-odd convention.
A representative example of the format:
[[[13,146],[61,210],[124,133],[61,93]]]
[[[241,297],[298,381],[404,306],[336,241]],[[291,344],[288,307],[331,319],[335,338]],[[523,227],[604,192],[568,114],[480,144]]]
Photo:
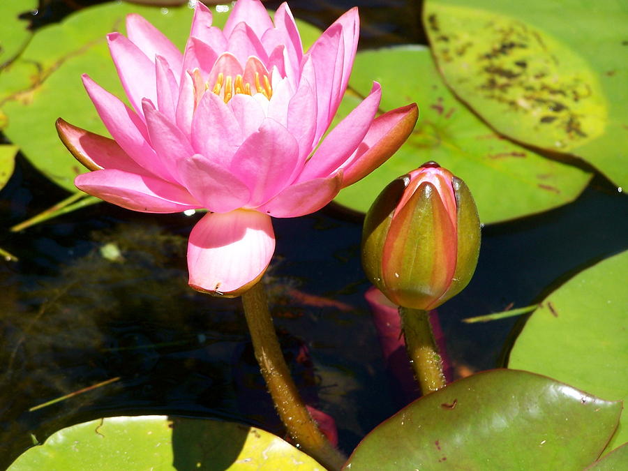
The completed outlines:
[[[41,24],[75,3],[95,2],[46,3]],[[414,2],[291,5],[295,15],[324,26],[355,3],[363,45],[424,40]],[[20,258],[0,264],[0,466],[32,443],[31,433],[43,441],[58,428],[106,415],[220,417],[281,434],[239,300],[207,297],[186,285],[186,239],[200,216],[98,204],[8,232],[64,197],[21,156],[0,192],[0,246]],[[627,216],[625,196],[596,177],[574,204],[484,227],[476,275],[439,309],[456,374],[496,366],[517,322],[469,325],[461,319],[532,304],[561,279],[625,249]],[[336,419],[341,448],[350,452],[400,407],[363,297],[361,220],[328,207],[275,220],[275,230],[267,283],[287,358],[306,400]]]

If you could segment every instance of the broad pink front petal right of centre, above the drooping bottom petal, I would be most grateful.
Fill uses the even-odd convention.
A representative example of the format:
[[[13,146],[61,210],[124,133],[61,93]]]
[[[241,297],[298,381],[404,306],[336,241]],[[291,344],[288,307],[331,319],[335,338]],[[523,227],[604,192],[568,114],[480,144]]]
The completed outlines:
[[[286,128],[264,119],[233,156],[231,170],[251,189],[249,207],[274,197],[290,183],[299,158],[299,144]]]

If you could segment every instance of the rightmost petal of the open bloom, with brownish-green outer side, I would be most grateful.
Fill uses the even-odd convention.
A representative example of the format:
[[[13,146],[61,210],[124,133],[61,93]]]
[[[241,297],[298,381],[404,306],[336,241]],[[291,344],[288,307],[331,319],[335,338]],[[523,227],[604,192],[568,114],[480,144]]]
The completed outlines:
[[[418,117],[419,109],[412,103],[375,118],[364,140],[343,164],[343,188],[366,177],[388,160],[408,139]]]

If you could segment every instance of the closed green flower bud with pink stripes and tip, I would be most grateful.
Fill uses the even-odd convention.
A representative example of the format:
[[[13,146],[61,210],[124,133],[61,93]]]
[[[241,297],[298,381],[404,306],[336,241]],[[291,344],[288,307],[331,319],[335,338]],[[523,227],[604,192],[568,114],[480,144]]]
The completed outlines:
[[[362,265],[395,304],[429,310],[469,283],[479,245],[469,188],[428,162],[392,181],[373,202],[364,220]]]

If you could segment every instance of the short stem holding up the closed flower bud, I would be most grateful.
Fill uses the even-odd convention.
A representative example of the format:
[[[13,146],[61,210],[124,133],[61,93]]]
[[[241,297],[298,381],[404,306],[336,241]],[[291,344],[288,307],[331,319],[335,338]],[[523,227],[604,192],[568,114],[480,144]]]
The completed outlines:
[[[446,383],[428,311],[401,306],[399,315],[405,347],[412,360],[412,369],[421,386],[421,392],[425,395],[438,391]]]

